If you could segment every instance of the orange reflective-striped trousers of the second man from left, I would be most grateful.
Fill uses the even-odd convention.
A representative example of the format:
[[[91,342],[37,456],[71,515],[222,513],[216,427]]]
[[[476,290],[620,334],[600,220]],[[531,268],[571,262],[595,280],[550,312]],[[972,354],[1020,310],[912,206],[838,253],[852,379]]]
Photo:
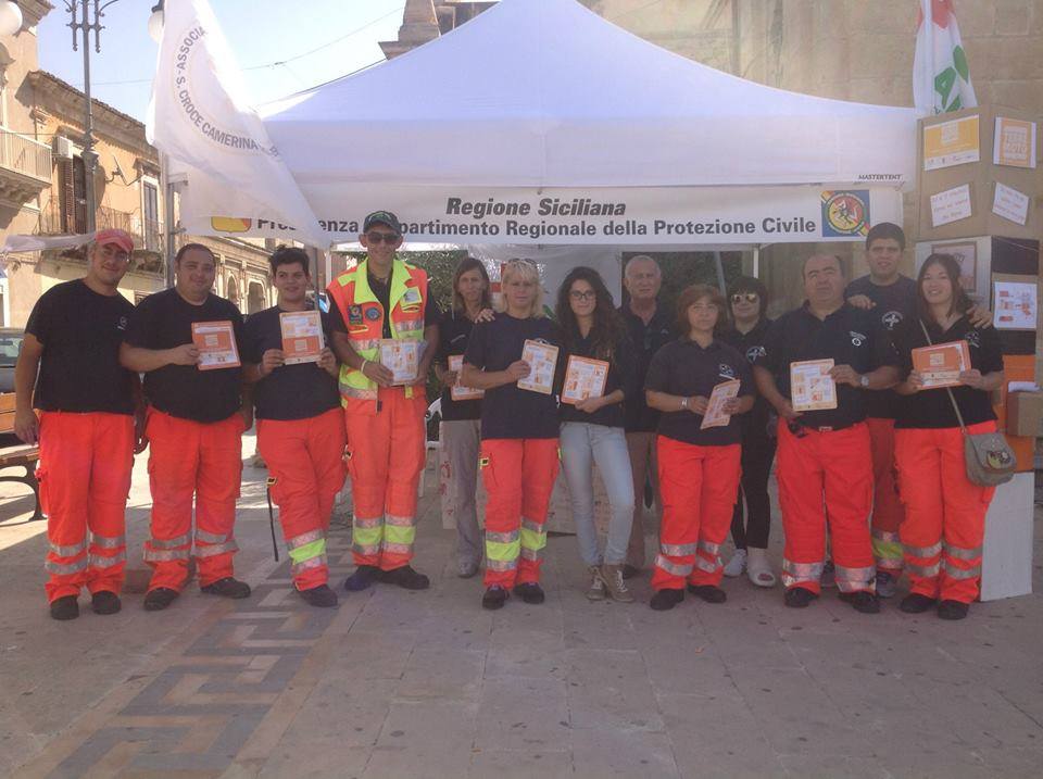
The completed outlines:
[[[193,499],[200,587],[231,576],[239,549],[233,528],[242,479],[242,416],[202,423],[150,407],[144,430],[152,490],[151,537],[144,543],[144,562],[152,567],[149,590],[185,587]]]

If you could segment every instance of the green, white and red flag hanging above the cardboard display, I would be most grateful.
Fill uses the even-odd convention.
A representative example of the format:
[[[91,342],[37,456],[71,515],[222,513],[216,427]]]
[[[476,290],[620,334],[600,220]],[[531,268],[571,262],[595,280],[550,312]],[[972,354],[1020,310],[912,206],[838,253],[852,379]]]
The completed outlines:
[[[978,105],[953,0],[920,0],[913,102],[921,116]]]

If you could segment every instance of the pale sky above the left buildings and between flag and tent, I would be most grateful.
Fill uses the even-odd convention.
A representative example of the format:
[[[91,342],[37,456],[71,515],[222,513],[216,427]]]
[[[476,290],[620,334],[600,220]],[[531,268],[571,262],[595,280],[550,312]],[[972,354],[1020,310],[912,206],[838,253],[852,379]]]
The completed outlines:
[[[40,67],[83,89],[83,48],[73,51],[65,1],[51,0],[54,10],[38,28]],[[382,60],[377,42],[398,37],[405,0],[210,3],[257,104]],[[104,12],[100,54],[95,52],[93,35],[90,39],[91,96],[141,122],[159,50],[147,26],[153,4],[154,0],[117,0]]]

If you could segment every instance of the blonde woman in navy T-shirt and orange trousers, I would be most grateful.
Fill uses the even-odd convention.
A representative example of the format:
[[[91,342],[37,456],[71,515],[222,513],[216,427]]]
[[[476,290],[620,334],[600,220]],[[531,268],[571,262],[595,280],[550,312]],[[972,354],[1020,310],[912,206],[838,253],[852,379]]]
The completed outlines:
[[[546,545],[548,506],[557,477],[557,400],[518,387],[529,379],[556,387],[561,366],[557,326],[543,314],[540,273],[528,260],[511,260],[501,273],[504,311],[478,323],[464,352],[460,377],[481,399],[478,465],[486,503],[483,608],[501,608],[513,589],[526,603],[542,603],[540,556]],[[558,348],[553,370],[523,360],[526,341]]]

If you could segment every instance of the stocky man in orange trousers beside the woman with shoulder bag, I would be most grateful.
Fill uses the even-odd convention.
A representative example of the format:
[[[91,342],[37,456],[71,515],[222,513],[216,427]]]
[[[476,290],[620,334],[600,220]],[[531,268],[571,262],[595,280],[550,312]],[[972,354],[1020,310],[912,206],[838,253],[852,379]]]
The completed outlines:
[[[808,257],[803,273],[807,300],[776,322],[754,365],[757,388],[779,414],[786,604],[801,608],[818,596],[828,523],[841,598],[875,614],[864,390],[894,386],[897,360],[879,324],[844,302],[839,257]]]

